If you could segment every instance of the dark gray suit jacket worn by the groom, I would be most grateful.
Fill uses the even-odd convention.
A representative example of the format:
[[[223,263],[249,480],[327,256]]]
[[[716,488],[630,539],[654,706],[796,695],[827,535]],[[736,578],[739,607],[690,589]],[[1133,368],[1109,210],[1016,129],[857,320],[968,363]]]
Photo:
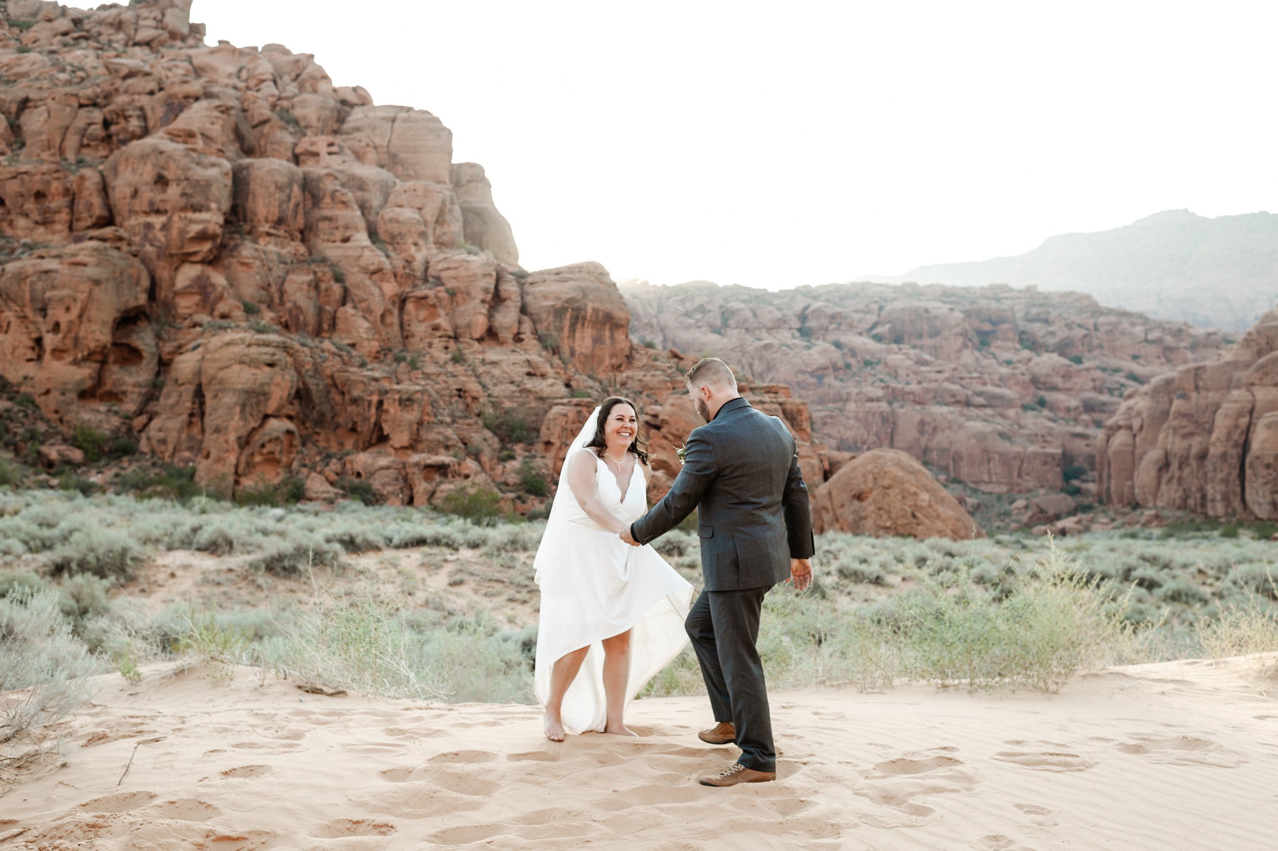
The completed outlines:
[[[670,493],[630,524],[635,540],[652,542],[698,509],[705,590],[774,585],[790,578],[791,558],[812,557],[808,486],[785,423],[734,399],[685,447]]]

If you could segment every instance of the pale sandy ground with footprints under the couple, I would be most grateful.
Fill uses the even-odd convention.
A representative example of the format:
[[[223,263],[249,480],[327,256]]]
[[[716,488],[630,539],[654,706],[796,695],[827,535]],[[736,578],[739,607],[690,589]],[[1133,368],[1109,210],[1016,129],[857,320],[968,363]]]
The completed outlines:
[[[152,670],[104,677],[69,762],[0,797],[0,851],[1270,850],[1278,684],[1255,667],[1112,668],[1058,695],[778,693],[781,779],[731,790],[694,779],[736,754],[695,739],[704,698],[635,703],[642,739],[556,745],[530,707]]]

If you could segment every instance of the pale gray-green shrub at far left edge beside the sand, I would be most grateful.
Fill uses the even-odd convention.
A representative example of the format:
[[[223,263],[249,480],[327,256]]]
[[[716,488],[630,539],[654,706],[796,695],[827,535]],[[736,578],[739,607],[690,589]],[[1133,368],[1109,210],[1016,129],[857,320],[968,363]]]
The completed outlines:
[[[0,598],[0,765],[29,758],[41,731],[70,716],[89,695],[101,666],[72,635],[58,594],[15,589]],[[23,691],[24,690],[24,691]]]

